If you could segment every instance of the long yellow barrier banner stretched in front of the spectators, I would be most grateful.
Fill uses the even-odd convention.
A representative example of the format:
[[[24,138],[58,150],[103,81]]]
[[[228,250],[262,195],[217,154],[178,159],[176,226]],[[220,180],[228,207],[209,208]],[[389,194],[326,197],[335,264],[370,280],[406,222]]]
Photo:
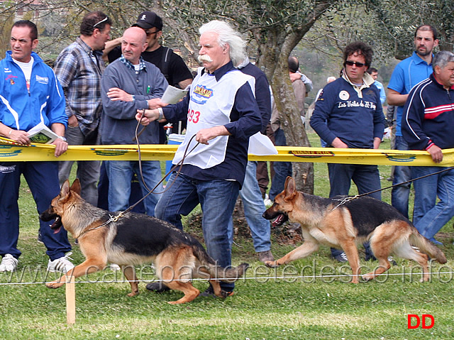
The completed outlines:
[[[142,160],[172,160],[178,145],[147,144],[140,146]],[[66,153],[56,158],[54,146],[31,144],[20,146],[0,137],[0,162],[39,160],[138,160],[136,145],[118,146],[69,146]],[[454,166],[454,149],[443,150],[443,162],[433,163],[427,151],[310,148],[277,146],[277,155],[249,155],[249,160],[275,162],[344,163],[375,165]]]

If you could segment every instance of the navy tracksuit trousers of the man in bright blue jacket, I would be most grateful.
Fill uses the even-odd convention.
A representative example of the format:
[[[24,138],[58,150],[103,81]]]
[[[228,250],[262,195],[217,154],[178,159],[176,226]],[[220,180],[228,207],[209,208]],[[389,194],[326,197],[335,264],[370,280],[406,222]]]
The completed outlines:
[[[17,248],[19,237],[18,197],[21,174],[25,177],[35,199],[38,214],[50,206],[50,202],[60,193],[57,162],[6,162],[0,163],[0,255],[21,255]],[[50,229],[54,221],[39,220],[46,254],[51,261],[65,256],[71,250],[67,232],[61,228],[57,234]]]

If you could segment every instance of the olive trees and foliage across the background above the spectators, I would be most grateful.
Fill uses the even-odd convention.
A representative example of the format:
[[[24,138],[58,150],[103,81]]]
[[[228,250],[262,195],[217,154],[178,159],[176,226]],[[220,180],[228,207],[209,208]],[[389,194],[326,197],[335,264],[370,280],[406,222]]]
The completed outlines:
[[[133,23],[140,11],[153,9],[165,21],[162,43],[180,46],[182,54],[194,62],[199,26],[215,18],[231,22],[245,33],[250,56],[266,73],[287,144],[294,146],[310,146],[287,76],[287,58],[301,39],[306,48],[321,50],[332,60],[339,60],[345,45],[357,39],[372,45],[375,60],[406,57],[411,53],[414,28],[421,23],[438,28],[443,49],[452,50],[454,39],[450,0],[409,0],[406,6],[397,0],[41,0],[39,5],[21,0],[3,4],[4,18],[11,19],[18,10],[33,13],[43,37],[38,52],[51,58],[74,40],[83,14],[96,9],[114,19],[113,36]],[[293,173],[299,190],[313,192],[311,165],[295,163]]]

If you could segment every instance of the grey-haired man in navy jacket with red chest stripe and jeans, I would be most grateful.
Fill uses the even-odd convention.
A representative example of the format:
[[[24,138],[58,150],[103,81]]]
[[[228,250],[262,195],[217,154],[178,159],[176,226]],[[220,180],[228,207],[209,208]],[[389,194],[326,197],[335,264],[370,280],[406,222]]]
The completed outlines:
[[[441,149],[454,148],[454,54],[437,53],[432,66],[432,75],[411,89],[402,116],[402,136],[409,148],[427,150],[434,162],[434,166],[411,167],[413,178],[442,170],[435,166],[443,160]],[[423,236],[436,241],[433,236],[454,216],[454,170],[413,185],[413,223]]]

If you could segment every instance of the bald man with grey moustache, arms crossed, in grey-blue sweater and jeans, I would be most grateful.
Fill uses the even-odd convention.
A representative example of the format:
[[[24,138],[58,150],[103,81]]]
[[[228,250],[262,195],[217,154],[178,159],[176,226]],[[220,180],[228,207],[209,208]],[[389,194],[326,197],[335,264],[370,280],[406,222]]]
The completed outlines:
[[[101,78],[103,114],[101,117],[101,143],[104,145],[131,144],[135,135],[137,110],[155,109],[162,97],[167,80],[160,70],[140,56],[146,50],[146,34],[142,28],[131,27],[121,40],[121,57],[112,62]],[[140,144],[159,143],[158,123],[150,124],[140,135]],[[109,210],[123,211],[128,208],[131,194],[131,178],[138,175],[143,195],[146,187],[153,188],[161,179],[158,160],[142,162],[143,182],[139,175],[138,161],[109,160],[106,162],[109,178]],[[161,192],[162,190],[157,190]],[[155,216],[159,195],[145,198],[145,212]]]

